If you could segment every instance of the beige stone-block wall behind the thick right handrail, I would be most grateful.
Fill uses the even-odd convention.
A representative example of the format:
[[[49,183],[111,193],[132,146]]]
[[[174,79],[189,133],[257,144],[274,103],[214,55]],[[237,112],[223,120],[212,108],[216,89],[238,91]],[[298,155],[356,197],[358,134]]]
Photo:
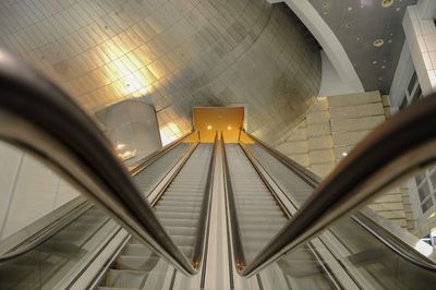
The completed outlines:
[[[389,112],[387,96],[378,92],[320,98],[292,135],[275,147],[325,178]],[[385,218],[408,227],[401,189],[384,193],[370,205]]]

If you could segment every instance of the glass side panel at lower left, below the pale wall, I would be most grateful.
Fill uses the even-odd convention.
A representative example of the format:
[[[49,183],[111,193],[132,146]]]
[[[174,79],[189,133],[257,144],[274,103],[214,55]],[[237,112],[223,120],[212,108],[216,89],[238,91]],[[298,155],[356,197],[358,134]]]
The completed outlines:
[[[105,213],[90,207],[36,249],[0,263],[0,288],[56,289],[89,263],[118,229]]]

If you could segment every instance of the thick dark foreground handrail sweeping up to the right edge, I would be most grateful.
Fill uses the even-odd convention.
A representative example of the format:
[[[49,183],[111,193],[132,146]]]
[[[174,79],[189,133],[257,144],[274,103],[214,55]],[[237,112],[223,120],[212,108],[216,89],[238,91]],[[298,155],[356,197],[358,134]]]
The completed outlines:
[[[252,276],[367,203],[399,178],[436,160],[436,95],[395,114],[370,133],[315,189],[250,265]]]

